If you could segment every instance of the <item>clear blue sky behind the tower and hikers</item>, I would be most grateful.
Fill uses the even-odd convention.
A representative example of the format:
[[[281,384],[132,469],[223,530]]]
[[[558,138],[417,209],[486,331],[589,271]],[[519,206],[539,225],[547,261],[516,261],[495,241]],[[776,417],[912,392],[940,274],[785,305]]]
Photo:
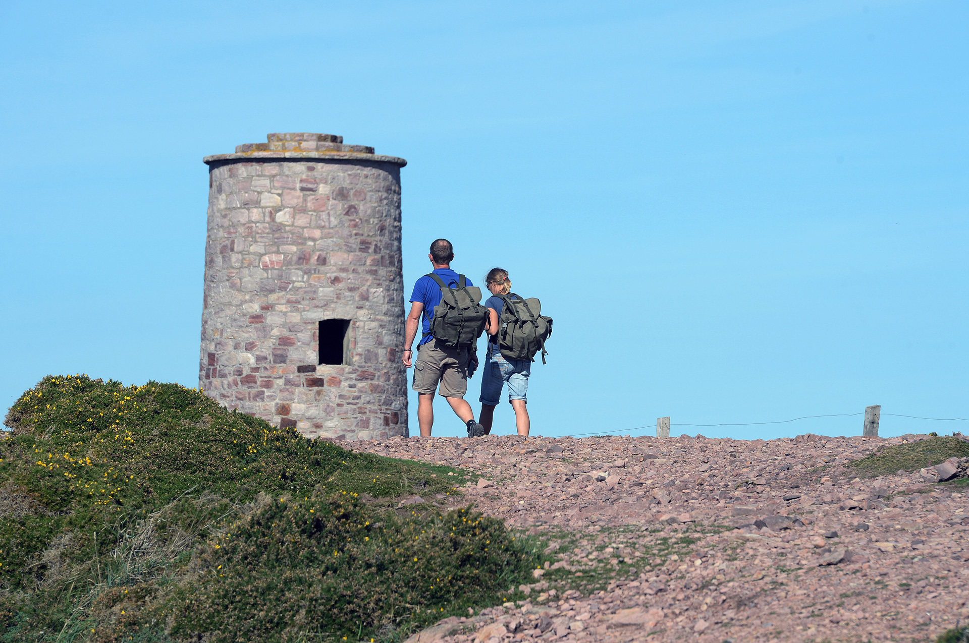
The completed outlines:
[[[969,417],[964,2],[42,0],[0,21],[4,408],[48,373],[196,385],[202,157],[326,132],[409,161],[408,294],[445,236],[455,268],[542,298],[534,434]]]

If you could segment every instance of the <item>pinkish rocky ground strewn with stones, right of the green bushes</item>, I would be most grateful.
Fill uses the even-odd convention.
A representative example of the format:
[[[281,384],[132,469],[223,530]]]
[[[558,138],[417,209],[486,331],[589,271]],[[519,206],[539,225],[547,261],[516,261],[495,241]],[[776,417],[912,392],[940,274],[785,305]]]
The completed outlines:
[[[932,484],[932,469],[862,479],[846,466],[902,442],[488,436],[347,446],[470,472],[455,477],[461,496],[404,503],[474,502],[556,561],[509,588],[504,607],[448,619],[411,643],[934,641],[969,619],[969,487]]]

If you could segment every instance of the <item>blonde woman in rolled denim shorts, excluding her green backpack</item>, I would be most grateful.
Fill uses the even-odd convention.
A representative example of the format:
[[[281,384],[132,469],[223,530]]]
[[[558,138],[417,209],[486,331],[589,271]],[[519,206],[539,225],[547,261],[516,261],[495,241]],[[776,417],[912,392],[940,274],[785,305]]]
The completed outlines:
[[[505,301],[501,298],[512,291],[512,280],[508,277],[508,270],[491,268],[485,277],[485,286],[491,291],[491,296],[485,301],[487,318],[485,331],[487,332],[487,352],[485,368],[482,369],[482,412],[479,422],[485,427],[485,435],[491,433],[491,422],[494,419],[494,408],[501,398],[501,389],[508,384],[508,401],[515,409],[515,424],[519,436],[527,436],[530,428],[525,394],[528,392],[528,376],[531,374],[532,362],[528,359],[506,359],[498,349],[498,320]],[[516,295],[513,295],[516,296]]]

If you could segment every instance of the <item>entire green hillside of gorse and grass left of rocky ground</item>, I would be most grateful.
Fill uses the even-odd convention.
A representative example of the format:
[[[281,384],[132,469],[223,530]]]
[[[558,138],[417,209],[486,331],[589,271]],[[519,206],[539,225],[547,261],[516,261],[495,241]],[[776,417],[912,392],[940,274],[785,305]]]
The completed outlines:
[[[177,384],[47,377],[0,442],[0,640],[390,640],[539,561],[446,468],[357,454]],[[415,509],[414,507],[422,507]]]

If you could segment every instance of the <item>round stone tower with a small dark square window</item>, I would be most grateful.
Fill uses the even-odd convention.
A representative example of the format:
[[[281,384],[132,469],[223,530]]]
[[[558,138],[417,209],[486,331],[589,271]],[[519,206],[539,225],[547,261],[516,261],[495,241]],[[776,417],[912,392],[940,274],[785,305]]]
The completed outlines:
[[[208,165],[199,383],[308,437],[407,436],[403,159],[270,134]]]

